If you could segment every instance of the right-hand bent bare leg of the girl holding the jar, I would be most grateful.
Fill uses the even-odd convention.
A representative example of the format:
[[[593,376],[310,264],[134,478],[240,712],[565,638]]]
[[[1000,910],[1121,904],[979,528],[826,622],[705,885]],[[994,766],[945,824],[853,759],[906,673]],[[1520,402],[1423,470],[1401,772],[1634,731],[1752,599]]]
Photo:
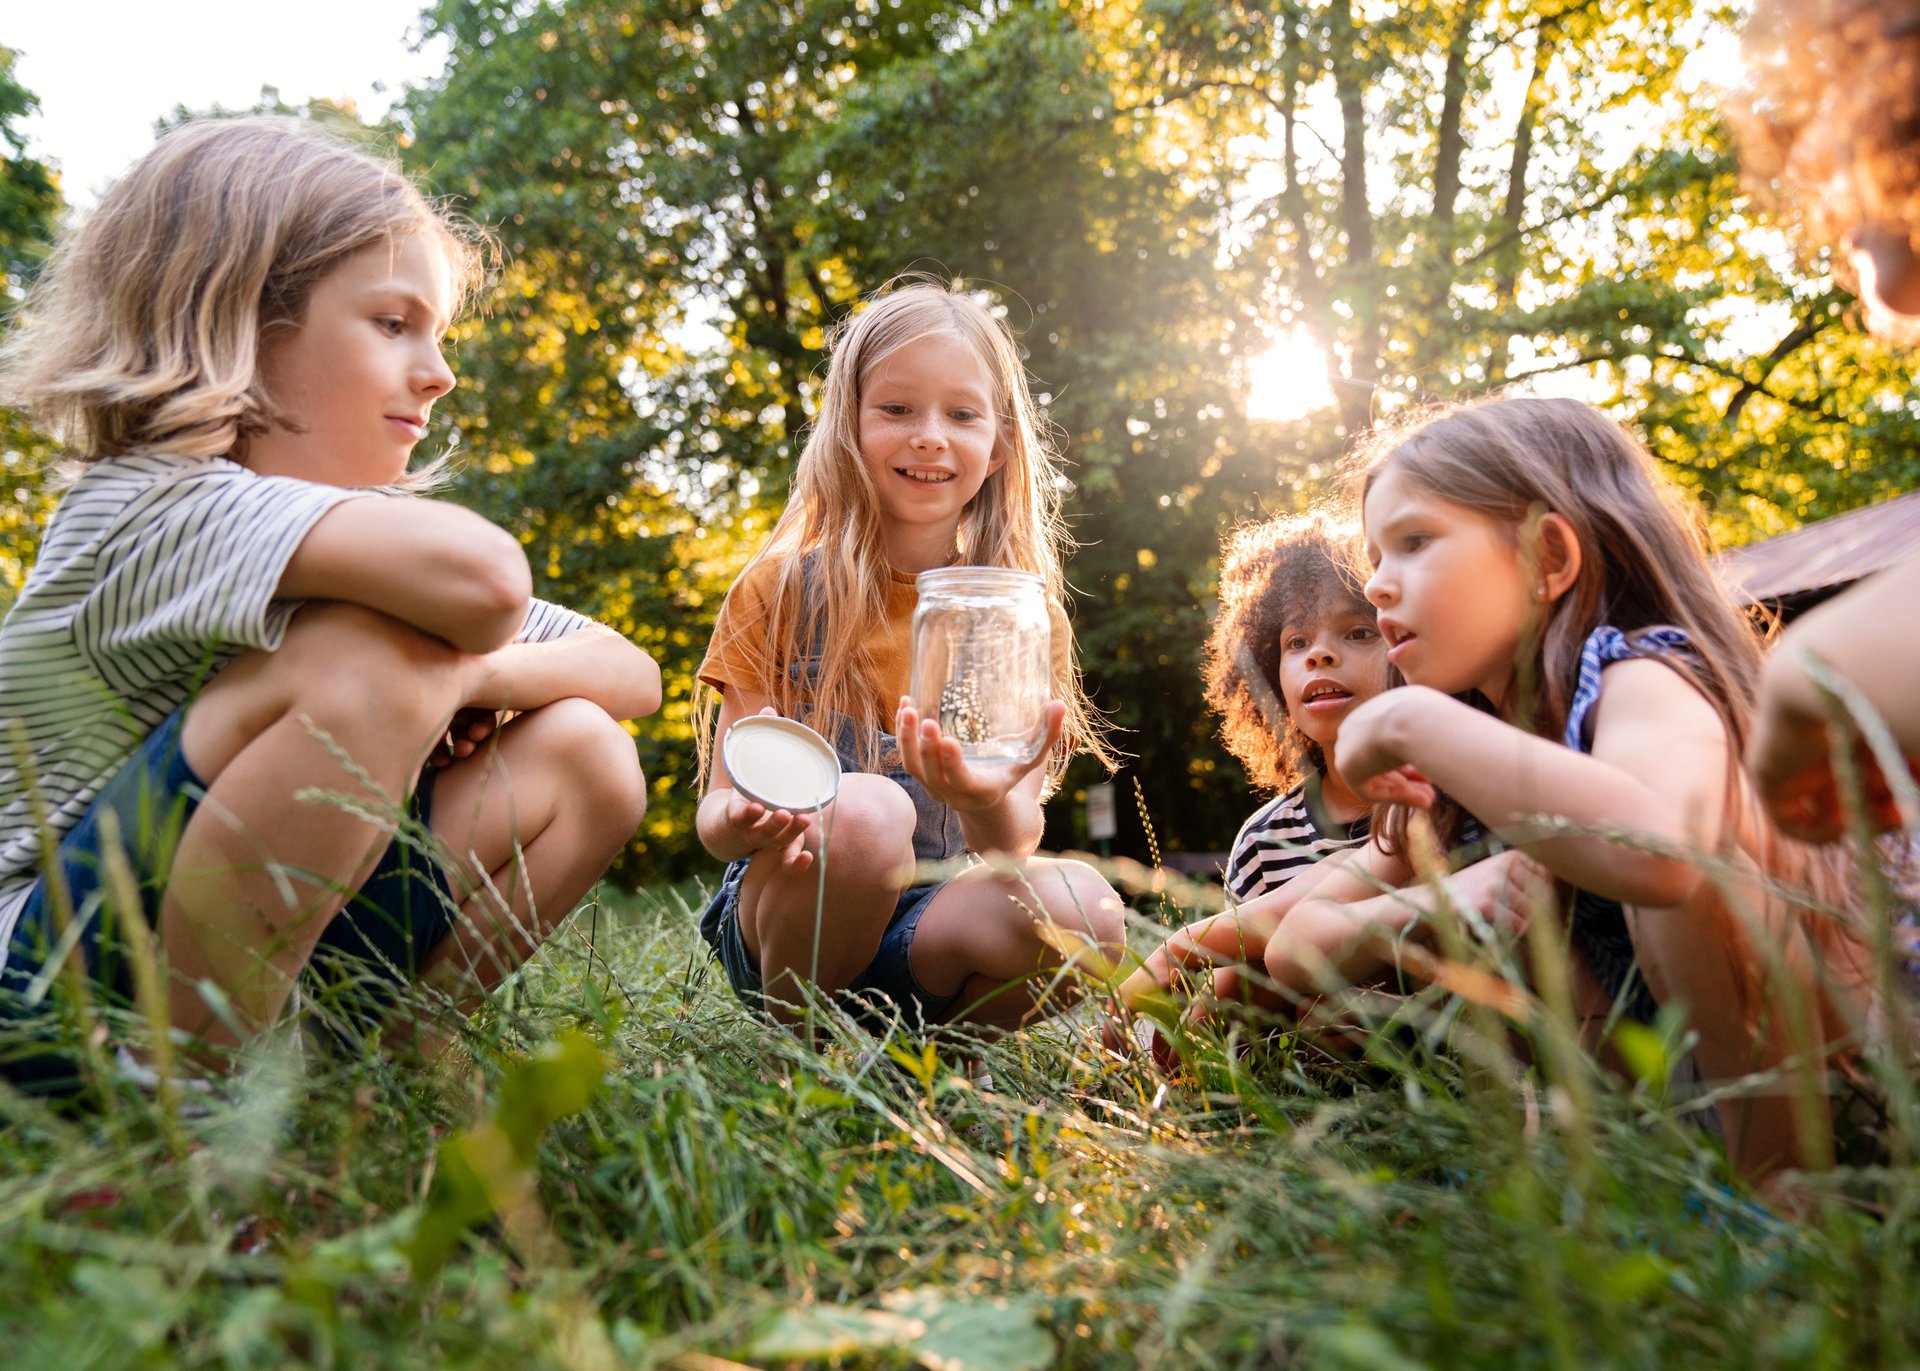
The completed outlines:
[[[1071,981],[1048,989],[1066,954],[1106,974],[1125,952],[1119,895],[1085,862],[1031,858],[1018,872],[960,872],[927,904],[908,952],[914,977],[935,995],[958,995],[956,1022],[1020,1027],[1079,997]]]

